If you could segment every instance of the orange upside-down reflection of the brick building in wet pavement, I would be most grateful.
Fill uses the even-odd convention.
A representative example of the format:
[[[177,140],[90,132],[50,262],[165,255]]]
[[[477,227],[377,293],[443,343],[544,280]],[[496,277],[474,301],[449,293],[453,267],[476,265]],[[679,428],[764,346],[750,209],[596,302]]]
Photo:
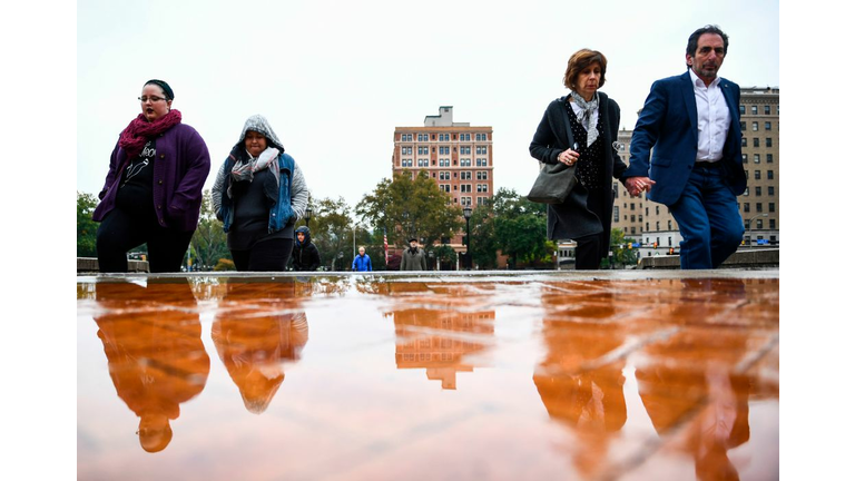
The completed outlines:
[[[484,349],[473,335],[493,334],[495,312],[461,313],[412,308],[395,311],[395,364],[397,369],[426,369],[429,380],[442,389],[456,389],[456,373],[472,372],[464,359]]]

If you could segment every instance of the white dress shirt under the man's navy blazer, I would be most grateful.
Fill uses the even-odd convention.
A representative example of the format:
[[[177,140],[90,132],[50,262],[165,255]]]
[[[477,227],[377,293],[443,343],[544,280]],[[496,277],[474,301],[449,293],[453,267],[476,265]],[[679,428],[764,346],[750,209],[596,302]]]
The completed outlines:
[[[721,77],[716,77],[707,87],[694,70],[689,69],[689,76],[695,86],[695,104],[698,106],[698,156],[695,159],[710,163],[721,160],[730,127],[730,110],[719,87]]]

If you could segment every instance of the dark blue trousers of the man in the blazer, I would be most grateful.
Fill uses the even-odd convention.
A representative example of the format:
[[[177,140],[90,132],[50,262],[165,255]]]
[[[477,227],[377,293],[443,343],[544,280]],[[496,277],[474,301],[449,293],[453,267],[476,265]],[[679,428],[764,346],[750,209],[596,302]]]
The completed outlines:
[[[716,166],[696,165],[686,189],[668,206],[680,227],[680,267],[715,268],[735,253],[745,226],[736,196]]]

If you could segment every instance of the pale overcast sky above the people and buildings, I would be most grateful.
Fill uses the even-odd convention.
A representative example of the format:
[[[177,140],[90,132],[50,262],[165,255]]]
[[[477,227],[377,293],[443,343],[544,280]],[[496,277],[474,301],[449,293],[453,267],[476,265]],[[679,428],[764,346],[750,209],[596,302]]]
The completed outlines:
[[[491,126],[494,189],[528,193],[528,146],[580,48],[609,60],[602,91],[631,129],[650,84],[685,71],[688,36],[730,36],[720,73],[778,86],[778,2],[78,1],[77,189],[104,185],[150,78],[208,145],[212,174],[247,117],[268,118],[316,198],[355,205],[391,176],[393,132],[440,106]]]

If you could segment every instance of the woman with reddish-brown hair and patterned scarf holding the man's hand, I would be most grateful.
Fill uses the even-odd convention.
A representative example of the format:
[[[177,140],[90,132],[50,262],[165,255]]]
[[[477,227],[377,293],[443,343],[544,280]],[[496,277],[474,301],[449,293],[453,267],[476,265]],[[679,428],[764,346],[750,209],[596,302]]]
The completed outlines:
[[[576,169],[578,183],[564,202],[547,207],[547,235],[576,240],[577,269],[597,269],[608,255],[611,179],[627,169],[617,153],[620,107],[599,91],[606,65],[606,56],[597,50],[581,49],[570,57],[563,77],[570,95],[549,104],[529,146],[541,163]]]

